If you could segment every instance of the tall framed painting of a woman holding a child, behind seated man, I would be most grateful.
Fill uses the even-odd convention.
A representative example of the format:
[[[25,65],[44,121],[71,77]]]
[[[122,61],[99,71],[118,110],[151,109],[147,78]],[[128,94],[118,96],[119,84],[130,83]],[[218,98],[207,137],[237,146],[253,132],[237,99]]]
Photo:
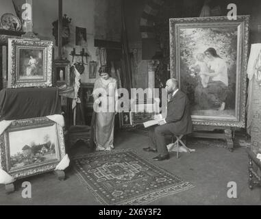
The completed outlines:
[[[249,16],[170,19],[171,77],[194,125],[245,127]]]

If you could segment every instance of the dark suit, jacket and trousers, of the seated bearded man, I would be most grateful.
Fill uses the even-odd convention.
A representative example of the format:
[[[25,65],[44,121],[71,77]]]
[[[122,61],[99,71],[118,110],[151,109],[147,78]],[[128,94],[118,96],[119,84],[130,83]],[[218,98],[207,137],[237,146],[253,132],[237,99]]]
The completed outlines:
[[[165,135],[186,135],[192,133],[192,120],[188,97],[178,90],[167,105],[166,124],[157,126],[150,131],[151,147],[156,148],[160,155],[167,155]]]

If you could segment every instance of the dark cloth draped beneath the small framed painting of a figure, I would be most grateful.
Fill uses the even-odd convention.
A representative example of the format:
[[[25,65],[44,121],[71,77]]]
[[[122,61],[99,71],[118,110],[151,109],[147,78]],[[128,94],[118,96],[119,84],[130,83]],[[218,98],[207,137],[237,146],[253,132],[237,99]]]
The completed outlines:
[[[58,88],[16,88],[0,91],[0,120],[61,114]]]

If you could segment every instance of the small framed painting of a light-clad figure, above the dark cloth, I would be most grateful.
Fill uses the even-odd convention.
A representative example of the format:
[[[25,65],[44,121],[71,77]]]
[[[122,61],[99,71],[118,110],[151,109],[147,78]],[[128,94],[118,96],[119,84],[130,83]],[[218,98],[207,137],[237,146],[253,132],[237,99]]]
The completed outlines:
[[[8,88],[52,86],[52,41],[8,39]]]

